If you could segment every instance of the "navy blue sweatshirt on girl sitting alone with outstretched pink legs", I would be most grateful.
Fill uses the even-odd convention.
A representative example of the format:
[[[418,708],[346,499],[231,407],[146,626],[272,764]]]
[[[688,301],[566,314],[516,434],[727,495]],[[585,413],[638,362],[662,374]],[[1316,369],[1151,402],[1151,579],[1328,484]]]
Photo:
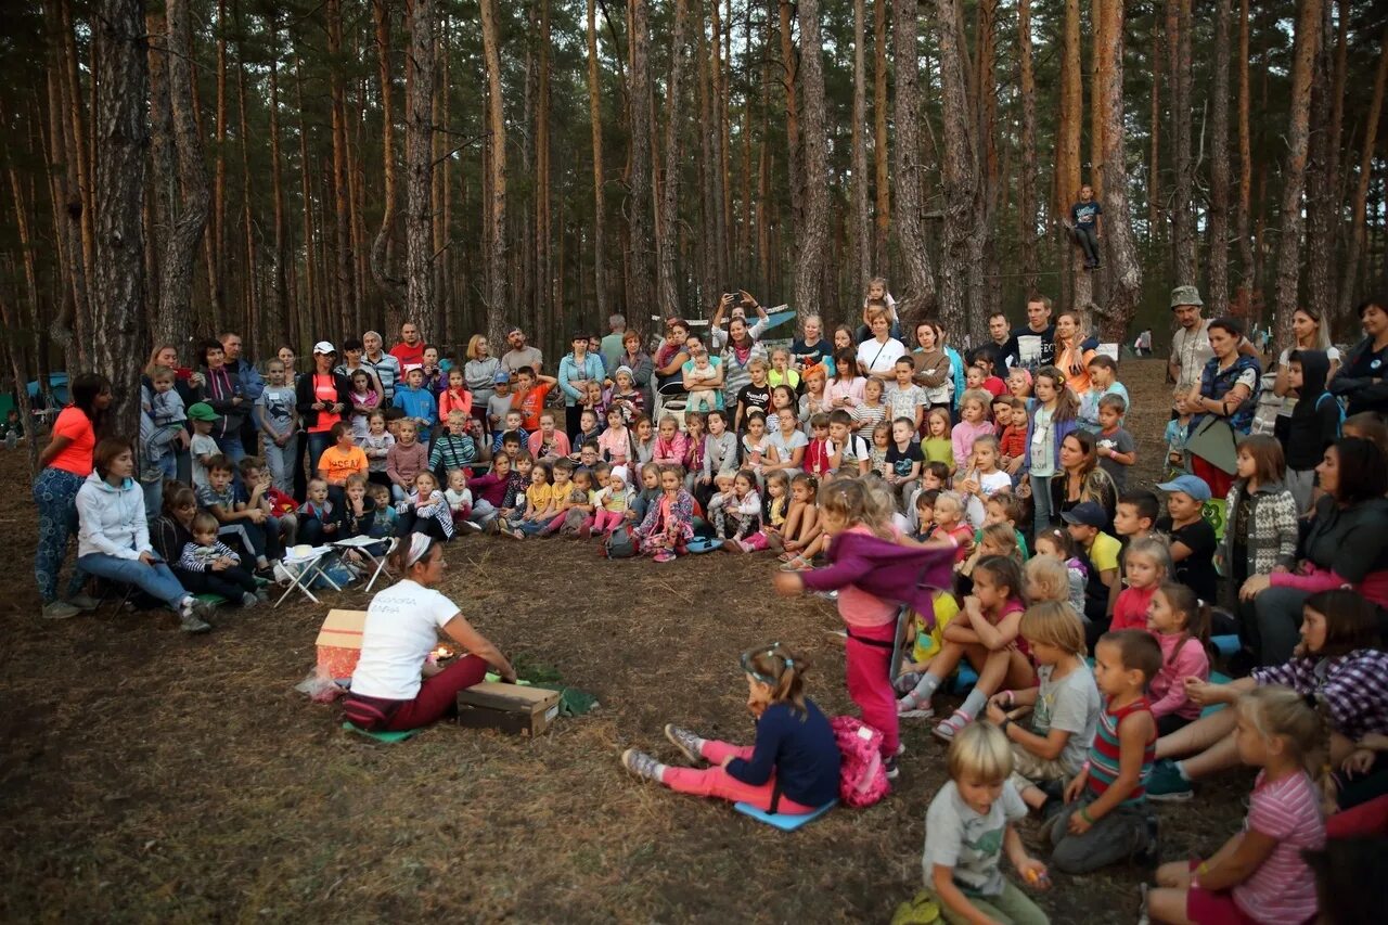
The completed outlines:
[[[752,758],[733,758],[727,774],[743,783],[761,786],[776,774],[781,796],[801,806],[823,806],[838,796],[838,743],[829,719],[815,701],[805,711],[773,703],[756,721]]]

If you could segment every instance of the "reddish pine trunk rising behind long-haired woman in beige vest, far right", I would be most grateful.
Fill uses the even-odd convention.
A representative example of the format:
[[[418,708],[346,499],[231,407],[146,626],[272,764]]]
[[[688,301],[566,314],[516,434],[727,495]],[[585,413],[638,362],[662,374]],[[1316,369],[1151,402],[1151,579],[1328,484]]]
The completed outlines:
[[[1302,0],[1296,17],[1292,58],[1291,115],[1287,125],[1287,164],[1283,168],[1281,235],[1277,244],[1277,343],[1291,343],[1292,312],[1301,278],[1302,192],[1310,124],[1310,85],[1320,47],[1323,0]]]

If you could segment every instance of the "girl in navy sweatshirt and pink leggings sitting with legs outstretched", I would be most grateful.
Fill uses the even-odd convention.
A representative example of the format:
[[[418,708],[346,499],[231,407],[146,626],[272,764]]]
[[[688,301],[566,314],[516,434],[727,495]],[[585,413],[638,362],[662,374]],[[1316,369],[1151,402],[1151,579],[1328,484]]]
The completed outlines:
[[[838,796],[840,756],[829,721],[802,692],[804,660],[773,643],[743,653],[743,671],[747,708],[756,717],[755,744],[701,739],[668,725],[665,738],[688,761],[712,767],[670,767],[636,749],[622,753],[622,764],[680,793],[751,803],[770,812],[813,812]]]

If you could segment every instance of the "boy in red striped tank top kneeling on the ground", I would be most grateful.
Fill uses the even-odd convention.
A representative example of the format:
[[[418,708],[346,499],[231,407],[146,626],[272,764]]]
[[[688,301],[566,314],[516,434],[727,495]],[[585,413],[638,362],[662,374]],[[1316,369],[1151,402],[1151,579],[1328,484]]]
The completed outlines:
[[[1103,712],[1090,757],[1065,789],[1051,828],[1051,862],[1088,874],[1134,854],[1155,854],[1156,819],[1146,817],[1146,781],[1156,756],[1156,719],[1146,686],[1162,668],[1162,647],[1141,629],[1105,633],[1094,647],[1094,681]]]

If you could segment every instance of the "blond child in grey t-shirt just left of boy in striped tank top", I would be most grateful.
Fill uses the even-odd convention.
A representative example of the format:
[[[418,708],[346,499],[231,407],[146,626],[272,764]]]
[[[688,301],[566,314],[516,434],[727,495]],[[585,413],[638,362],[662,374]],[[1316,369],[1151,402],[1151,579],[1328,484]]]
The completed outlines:
[[[1040,685],[1004,690],[988,700],[988,721],[1012,743],[1012,783],[1031,808],[1051,799],[1038,783],[1060,786],[1080,772],[1099,724],[1099,689],[1084,664],[1084,625],[1063,601],[1033,604],[1022,615],[1022,636],[1037,662]],[[1031,707],[1030,722],[1013,711]]]

